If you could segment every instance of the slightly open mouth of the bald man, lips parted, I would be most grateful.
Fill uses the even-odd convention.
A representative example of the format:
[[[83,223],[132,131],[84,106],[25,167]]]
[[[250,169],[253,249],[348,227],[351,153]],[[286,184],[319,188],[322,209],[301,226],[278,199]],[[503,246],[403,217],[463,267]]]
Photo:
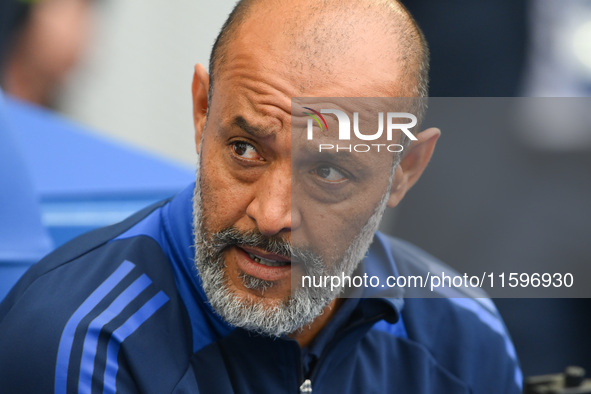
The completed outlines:
[[[238,268],[247,275],[267,281],[289,278],[291,262],[288,257],[264,252],[248,246],[236,246]]]

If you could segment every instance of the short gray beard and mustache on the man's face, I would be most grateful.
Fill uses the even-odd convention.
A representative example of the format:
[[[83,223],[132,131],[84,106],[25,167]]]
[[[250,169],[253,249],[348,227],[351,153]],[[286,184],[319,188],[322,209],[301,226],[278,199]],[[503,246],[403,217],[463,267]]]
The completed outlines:
[[[302,262],[305,275],[351,275],[364,258],[378,229],[388,202],[393,176],[390,177],[388,188],[367,223],[351,242],[343,257],[336,259],[334,264],[325,264],[310,250],[294,247],[277,237],[265,237],[257,231],[241,232],[231,227],[215,233],[208,232],[203,222],[199,167],[196,179],[193,194],[195,266],[209,303],[214,311],[232,326],[279,337],[310,325],[344,289],[339,287],[331,290],[330,286],[301,287],[294,286],[292,282],[290,296],[284,300],[277,300],[274,305],[263,305],[252,299],[241,297],[228,285],[223,252],[235,245],[258,247]],[[262,293],[273,286],[273,282],[244,273],[240,277],[246,288],[256,289]]]

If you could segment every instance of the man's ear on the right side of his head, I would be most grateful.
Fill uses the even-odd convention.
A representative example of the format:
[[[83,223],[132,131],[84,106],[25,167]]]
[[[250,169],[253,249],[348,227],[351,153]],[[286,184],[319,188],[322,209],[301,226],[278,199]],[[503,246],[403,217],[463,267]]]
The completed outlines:
[[[441,131],[435,127],[417,134],[417,141],[413,141],[405,150],[402,160],[396,167],[388,206],[395,207],[404,197],[406,192],[421,177],[427,167],[437,139]]]

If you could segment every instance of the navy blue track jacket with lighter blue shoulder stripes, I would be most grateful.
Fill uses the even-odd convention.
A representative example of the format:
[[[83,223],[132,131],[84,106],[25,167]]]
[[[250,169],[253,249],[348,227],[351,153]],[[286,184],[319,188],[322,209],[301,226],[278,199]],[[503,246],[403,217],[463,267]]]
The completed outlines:
[[[488,299],[347,299],[304,349],[230,327],[193,264],[193,187],[24,275],[0,304],[1,393],[521,391]],[[401,273],[444,267],[380,233],[368,259]]]

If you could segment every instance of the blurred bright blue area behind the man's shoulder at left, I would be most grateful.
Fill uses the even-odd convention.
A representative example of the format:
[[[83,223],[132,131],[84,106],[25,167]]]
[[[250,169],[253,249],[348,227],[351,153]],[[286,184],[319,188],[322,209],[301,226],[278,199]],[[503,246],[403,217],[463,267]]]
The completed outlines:
[[[34,262],[174,195],[194,170],[0,97],[0,299]]]

